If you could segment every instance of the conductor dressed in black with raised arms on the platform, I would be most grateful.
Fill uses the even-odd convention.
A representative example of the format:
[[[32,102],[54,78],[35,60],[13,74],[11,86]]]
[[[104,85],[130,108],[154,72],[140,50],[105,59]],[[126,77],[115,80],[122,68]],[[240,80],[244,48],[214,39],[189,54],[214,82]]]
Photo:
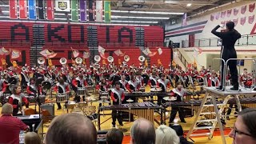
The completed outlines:
[[[216,26],[214,30],[211,31],[212,34],[216,35],[218,38],[222,38],[222,53],[221,58],[226,62],[230,58],[237,58],[236,50],[234,49],[235,42],[241,38],[241,34],[238,33],[237,30],[234,30],[234,22],[226,22],[226,31],[225,32],[217,32],[218,28],[221,26]],[[230,74],[232,79],[233,87],[230,90],[238,90],[238,69],[237,69],[237,61],[231,60],[227,64],[230,68]],[[222,76],[221,76],[221,84],[218,89],[222,90],[222,86],[224,86],[224,62],[222,62]]]

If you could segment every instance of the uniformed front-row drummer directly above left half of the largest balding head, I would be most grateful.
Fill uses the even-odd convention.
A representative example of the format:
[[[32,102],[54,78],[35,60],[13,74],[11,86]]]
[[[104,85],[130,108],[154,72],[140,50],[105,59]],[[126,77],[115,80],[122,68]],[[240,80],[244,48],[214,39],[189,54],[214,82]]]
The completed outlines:
[[[58,94],[66,94],[68,98],[68,94],[70,94],[70,87],[69,84],[64,82],[64,79],[60,79],[56,86],[54,86],[54,91],[56,91]],[[61,103],[57,101],[56,98],[56,103],[58,106],[58,110],[62,109]]]

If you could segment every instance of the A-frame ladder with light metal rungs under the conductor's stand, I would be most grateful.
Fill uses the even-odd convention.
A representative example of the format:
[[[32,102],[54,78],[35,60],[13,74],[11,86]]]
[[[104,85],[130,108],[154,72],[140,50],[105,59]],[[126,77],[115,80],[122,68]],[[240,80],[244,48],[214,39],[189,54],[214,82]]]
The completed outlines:
[[[198,110],[198,114],[196,115],[196,118],[194,119],[194,123],[190,127],[190,131],[186,135],[186,138],[197,137],[197,136],[208,136],[208,138],[211,139],[213,138],[214,130],[218,124],[220,132],[222,134],[222,142],[226,144],[226,139],[224,137],[220,115],[222,115],[222,112],[226,107],[226,104],[229,101],[230,97],[231,96],[227,96],[226,98],[224,98],[222,102],[217,103],[216,95],[211,93],[206,93],[206,96],[205,98],[202,99],[202,103]],[[238,94],[236,94],[234,98],[236,99],[238,109],[241,110]],[[210,109],[210,107],[212,107],[214,111],[213,109]],[[214,118],[207,118],[207,116],[209,115],[213,115]],[[203,122],[211,123],[211,126],[199,127],[198,125],[202,124]],[[197,130],[209,130],[209,131],[207,131],[206,133],[194,134],[194,132]]]

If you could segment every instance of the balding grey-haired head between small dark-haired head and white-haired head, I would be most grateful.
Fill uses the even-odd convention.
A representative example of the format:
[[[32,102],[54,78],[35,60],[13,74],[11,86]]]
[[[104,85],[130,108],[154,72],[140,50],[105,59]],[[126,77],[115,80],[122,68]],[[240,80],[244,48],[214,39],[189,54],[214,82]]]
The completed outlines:
[[[131,144],[154,144],[154,125],[144,118],[138,118],[130,128],[130,136]]]

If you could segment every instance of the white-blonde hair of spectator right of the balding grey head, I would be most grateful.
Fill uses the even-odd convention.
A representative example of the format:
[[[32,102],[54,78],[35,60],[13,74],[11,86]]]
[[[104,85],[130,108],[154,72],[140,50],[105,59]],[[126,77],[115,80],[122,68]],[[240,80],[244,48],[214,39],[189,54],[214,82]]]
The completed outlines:
[[[155,130],[156,144],[179,144],[179,137],[175,130],[166,125],[161,125]]]

